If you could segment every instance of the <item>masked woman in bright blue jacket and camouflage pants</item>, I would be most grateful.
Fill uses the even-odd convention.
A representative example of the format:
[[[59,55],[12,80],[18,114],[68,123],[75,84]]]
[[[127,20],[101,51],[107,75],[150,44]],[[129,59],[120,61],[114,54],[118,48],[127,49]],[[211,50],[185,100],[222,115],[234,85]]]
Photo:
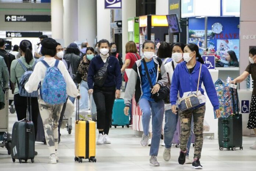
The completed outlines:
[[[196,58],[202,58],[199,54],[199,49],[196,44],[189,43],[184,48],[183,59],[179,63],[173,73],[170,90],[170,101],[172,105],[172,112],[177,114],[177,96],[179,93],[179,100],[189,95],[195,94],[198,97],[199,105],[185,111],[179,110],[179,120],[181,123],[181,135],[179,137],[180,154],[178,158],[179,164],[185,163],[186,153],[188,152],[187,144],[191,131],[191,118],[193,115],[194,133],[195,133],[195,152],[193,167],[195,169],[202,168],[200,165],[200,157],[203,146],[203,120],[205,116],[206,97],[204,90],[201,88],[202,83],[205,86],[207,95],[211,104],[216,111],[217,117],[220,117],[219,102],[214,83],[211,79],[209,70],[205,65],[196,61]],[[199,77],[200,75],[200,77]],[[198,92],[197,92],[198,89]],[[211,110],[211,109],[209,109]]]

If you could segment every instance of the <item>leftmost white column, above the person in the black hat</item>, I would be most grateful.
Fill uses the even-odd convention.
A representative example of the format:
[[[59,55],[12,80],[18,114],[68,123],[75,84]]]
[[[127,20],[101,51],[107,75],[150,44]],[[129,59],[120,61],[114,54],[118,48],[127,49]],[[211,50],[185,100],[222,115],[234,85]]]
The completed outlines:
[[[51,1],[51,37],[63,39],[63,0]]]

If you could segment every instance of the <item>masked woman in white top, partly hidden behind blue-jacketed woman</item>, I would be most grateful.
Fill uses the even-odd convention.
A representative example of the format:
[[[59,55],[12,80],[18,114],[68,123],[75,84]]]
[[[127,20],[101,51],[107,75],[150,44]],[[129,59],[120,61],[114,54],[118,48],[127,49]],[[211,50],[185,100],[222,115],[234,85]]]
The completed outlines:
[[[183,43],[175,43],[173,44],[172,56],[173,61],[165,64],[167,75],[169,76],[169,80],[171,81],[173,78],[173,72],[177,66],[177,64],[183,61],[183,52],[184,52],[185,44]],[[170,82],[171,84],[171,82]],[[170,86],[170,85],[169,85]],[[163,153],[163,158],[165,161],[169,161],[171,158],[171,145],[174,136],[174,132],[176,131],[176,126],[178,122],[178,114],[174,114],[171,110],[171,104],[165,104],[165,121],[163,121],[163,130],[164,130],[164,144],[165,149]],[[192,131],[191,131],[192,132]],[[191,164],[191,160],[188,158],[189,149],[191,145],[192,134],[190,134],[188,139],[188,152],[186,154],[186,164]]]

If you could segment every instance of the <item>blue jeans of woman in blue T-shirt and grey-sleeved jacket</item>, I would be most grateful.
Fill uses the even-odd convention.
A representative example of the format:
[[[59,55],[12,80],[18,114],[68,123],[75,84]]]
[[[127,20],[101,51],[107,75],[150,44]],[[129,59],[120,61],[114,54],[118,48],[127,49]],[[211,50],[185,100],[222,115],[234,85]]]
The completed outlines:
[[[145,135],[149,135],[149,121],[152,115],[152,141],[150,156],[157,156],[162,132],[164,117],[164,101],[148,101],[145,98],[139,100],[139,107],[142,111],[142,126]]]

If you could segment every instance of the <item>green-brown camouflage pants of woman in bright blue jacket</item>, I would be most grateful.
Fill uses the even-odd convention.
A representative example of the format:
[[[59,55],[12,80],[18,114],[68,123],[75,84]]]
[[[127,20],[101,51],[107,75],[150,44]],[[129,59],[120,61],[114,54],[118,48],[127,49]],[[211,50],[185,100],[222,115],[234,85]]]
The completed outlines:
[[[194,133],[196,138],[194,158],[200,158],[203,147],[203,120],[205,118],[205,105],[193,110],[179,112],[179,122],[181,124],[179,145],[182,151],[186,151],[186,146],[191,131],[192,115],[194,119]]]

